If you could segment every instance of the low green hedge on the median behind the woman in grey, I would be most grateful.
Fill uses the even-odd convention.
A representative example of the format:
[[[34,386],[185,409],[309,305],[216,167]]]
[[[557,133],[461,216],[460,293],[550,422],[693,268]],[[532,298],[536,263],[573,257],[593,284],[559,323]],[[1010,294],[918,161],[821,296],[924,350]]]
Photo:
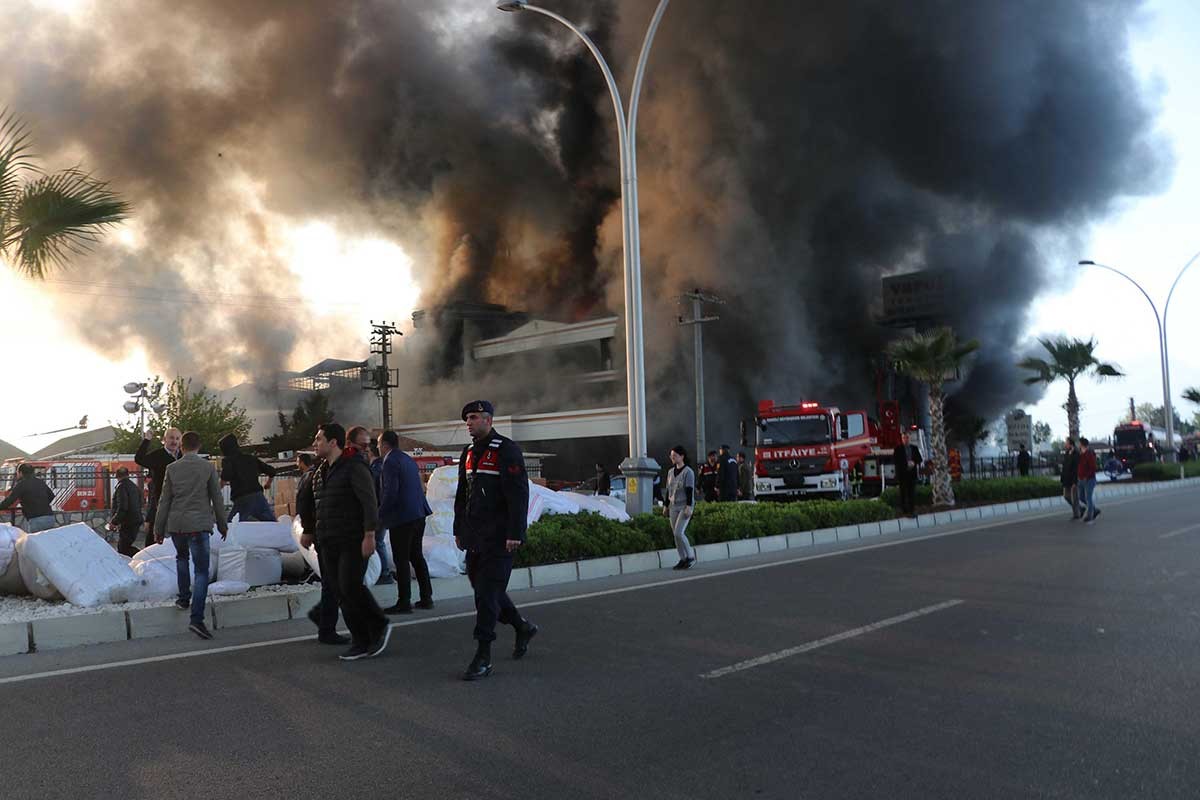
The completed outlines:
[[[895,510],[875,500],[701,503],[688,525],[688,539],[692,545],[710,545],[893,518]],[[629,522],[598,513],[547,515],[529,527],[515,563],[536,566],[671,547],[674,535],[661,512],[638,515]]]

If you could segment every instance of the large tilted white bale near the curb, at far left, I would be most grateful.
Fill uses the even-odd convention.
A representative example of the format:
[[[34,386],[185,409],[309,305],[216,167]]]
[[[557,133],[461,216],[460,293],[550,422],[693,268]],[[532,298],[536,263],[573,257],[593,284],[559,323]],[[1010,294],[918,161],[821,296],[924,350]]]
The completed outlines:
[[[116,551],[83,523],[25,534],[25,558],[74,606],[125,602],[138,583]]]

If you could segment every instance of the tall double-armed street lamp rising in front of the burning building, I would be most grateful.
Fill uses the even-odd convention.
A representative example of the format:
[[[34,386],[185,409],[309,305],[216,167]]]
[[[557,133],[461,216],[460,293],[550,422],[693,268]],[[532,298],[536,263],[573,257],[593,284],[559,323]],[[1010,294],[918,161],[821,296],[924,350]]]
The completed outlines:
[[[565,25],[588,48],[600,71],[604,73],[608,94],[612,95],[612,108],[617,116],[617,146],[620,154],[620,211],[622,211],[622,252],[625,266],[625,372],[629,398],[629,458],[622,462],[620,471],[626,475],[625,509],[631,513],[650,510],[654,497],[654,476],[659,464],[649,458],[646,449],[646,361],[642,343],[642,255],[641,227],[637,212],[637,104],[646,79],[646,62],[650,54],[650,43],[659,29],[659,22],[667,10],[670,0],[660,0],[650,19],[642,42],[642,52],[634,72],[634,86],[630,92],[629,118],[622,104],[620,90],[595,42],[577,25],[553,11],[529,5],[526,0],[508,0],[496,7],[500,11],[533,11],[550,17]]]

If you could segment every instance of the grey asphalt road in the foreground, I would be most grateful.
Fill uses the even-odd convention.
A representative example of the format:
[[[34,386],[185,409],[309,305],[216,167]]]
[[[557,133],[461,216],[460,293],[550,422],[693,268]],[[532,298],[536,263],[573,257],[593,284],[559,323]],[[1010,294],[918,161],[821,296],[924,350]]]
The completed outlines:
[[[1198,500],[521,593],[478,684],[461,601],[355,663],[172,657],[306,622],[0,658],[0,796],[1196,798]]]

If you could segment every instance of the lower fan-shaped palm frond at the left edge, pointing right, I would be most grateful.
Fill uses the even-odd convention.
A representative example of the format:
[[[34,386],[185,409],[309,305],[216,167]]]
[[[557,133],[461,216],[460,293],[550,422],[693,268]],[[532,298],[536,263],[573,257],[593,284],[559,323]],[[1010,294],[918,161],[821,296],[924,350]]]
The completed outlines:
[[[0,253],[17,267],[44,277],[68,255],[90,249],[100,231],[126,218],[130,206],[108,184],[78,169],[44,175],[26,184],[7,209]]]

